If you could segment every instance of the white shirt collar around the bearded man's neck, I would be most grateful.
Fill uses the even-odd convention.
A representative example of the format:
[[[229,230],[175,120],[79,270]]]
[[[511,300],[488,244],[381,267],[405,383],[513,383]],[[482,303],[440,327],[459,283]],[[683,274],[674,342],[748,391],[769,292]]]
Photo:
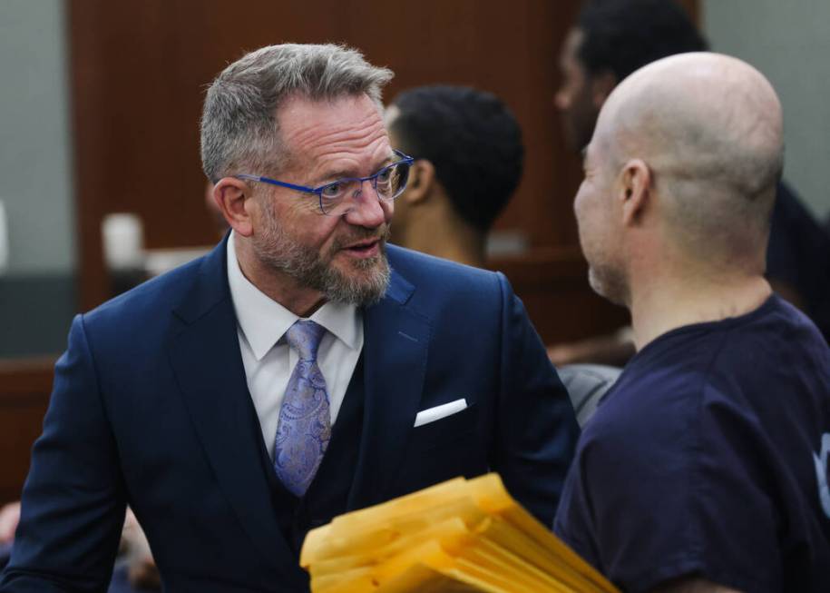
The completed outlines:
[[[245,277],[239,268],[234,237],[235,233],[231,231],[227,243],[230,299],[239,329],[259,361],[299,317],[261,292]],[[308,319],[322,325],[349,348],[358,347],[362,317],[355,305],[326,302]]]

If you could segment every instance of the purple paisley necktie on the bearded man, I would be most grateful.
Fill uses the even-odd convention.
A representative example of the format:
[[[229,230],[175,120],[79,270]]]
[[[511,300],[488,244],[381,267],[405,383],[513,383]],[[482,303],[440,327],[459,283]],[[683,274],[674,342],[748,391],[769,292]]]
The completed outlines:
[[[305,495],[331,439],[328,389],[317,366],[317,348],[324,333],[323,326],[303,320],[286,332],[288,346],[298,352],[299,361],[279,409],[274,469],[298,497]]]

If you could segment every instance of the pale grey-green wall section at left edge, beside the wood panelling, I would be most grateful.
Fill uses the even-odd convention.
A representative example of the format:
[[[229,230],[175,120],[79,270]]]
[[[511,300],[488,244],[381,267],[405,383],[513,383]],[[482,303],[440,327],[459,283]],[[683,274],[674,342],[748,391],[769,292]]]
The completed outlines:
[[[8,275],[64,274],[77,260],[63,9],[63,0],[0,2]]]

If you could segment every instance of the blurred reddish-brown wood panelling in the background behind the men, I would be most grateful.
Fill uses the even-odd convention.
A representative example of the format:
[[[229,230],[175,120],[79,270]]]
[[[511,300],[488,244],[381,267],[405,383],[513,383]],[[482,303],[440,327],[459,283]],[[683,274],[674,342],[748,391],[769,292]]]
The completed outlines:
[[[684,5],[697,18],[697,1]],[[395,72],[387,99],[419,84],[470,84],[510,105],[525,173],[496,229],[521,232],[530,249],[491,267],[507,274],[548,343],[618,327],[624,311],[588,286],[571,211],[580,163],[552,104],[578,9],[577,0],[69,0],[82,309],[110,296],[105,214],[139,214],[148,248],[215,242],[199,156],[206,84],[261,45],[342,42]],[[0,363],[0,502],[19,496],[54,358]]]

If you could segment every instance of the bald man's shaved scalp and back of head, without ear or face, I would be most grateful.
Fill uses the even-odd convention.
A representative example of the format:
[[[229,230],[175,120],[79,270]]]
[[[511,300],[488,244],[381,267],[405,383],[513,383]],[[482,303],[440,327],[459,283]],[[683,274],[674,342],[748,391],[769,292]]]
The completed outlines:
[[[784,153],[781,104],[763,74],[721,54],[670,56],[626,78],[597,128],[618,165],[648,165],[681,246],[763,265]]]

